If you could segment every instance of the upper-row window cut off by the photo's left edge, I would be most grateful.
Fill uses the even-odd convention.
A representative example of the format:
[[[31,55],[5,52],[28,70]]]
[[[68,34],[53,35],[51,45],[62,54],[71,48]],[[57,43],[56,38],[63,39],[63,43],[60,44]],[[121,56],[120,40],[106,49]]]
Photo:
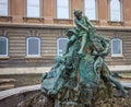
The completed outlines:
[[[0,0],[0,15],[8,16],[8,0]]]

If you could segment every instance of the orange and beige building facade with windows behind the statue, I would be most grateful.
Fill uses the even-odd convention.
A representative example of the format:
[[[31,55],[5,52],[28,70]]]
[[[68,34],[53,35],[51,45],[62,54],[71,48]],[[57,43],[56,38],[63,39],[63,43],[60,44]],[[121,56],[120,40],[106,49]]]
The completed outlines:
[[[49,70],[55,56],[64,52],[64,31],[75,26],[74,9],[83,11],[98,35],[110,38],[109,68],[130,71],[130,4],[131,0],[0,0],[1,74],[24,68],[28,72]]]

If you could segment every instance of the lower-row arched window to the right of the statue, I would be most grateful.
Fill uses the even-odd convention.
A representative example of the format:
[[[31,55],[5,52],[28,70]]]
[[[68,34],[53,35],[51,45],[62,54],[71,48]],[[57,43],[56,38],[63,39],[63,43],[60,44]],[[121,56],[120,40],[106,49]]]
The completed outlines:
[[[121,57],[122,56],[122,40],[119,38],[111,39],[111,56]]]

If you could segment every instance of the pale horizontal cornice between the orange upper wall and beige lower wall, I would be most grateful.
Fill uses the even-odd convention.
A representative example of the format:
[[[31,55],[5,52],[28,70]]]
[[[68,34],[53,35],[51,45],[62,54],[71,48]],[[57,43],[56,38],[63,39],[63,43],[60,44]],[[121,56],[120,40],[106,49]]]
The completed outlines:
[[[52,29],[64,29],[64,28],[70,28],[70,27],[75,27],[75,25],[52,25],[52,24],[10,24],[10,23],[4,23],[0,24],[0,28],[52,28]],[[104,31],[128,31],[131,32],[131,26],[95,26],[96,29],[104,29]]]

